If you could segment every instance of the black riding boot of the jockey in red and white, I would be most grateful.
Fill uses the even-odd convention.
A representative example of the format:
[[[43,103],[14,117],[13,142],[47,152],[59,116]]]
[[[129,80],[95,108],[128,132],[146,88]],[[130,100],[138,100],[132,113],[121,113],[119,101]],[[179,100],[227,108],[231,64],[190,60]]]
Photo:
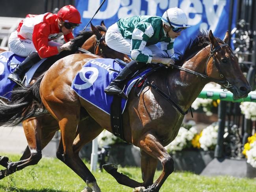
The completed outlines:
[[[39,62],[41,58],[39,57],[37,52],[30,53],[26,59],[19,64],[14,71],[8,76],[8,79],[13,80],[17,84],[21,82],[21,76],[24,75],[26,70],[28,70],[32,65]]]

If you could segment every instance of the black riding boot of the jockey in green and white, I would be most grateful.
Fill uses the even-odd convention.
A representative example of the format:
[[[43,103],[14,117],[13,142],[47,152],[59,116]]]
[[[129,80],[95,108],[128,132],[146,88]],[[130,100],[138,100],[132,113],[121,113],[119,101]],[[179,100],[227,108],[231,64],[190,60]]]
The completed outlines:
[[[142,67],[145,66],[146,63],[131,61],[122,69],[118,76],[110,82],[104,92],[108,95],[119,95],[123,99],[128,99],[123,92],[123,84],[125,84],[125,81],[129,77],[131,77],[136,71],[140,70]]]

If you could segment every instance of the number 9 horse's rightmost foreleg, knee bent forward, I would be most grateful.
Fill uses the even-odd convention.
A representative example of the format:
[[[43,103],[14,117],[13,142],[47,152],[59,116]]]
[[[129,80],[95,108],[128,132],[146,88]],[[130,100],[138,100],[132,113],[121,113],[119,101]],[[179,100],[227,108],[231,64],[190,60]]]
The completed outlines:
[[[163,172],[160,177],[153,183],[153,185],[144,190],[144,192],[158,192],[166,178],[174,171],[174,161],[159,140],[151,133],[145,134],[138,145],[138,147],[146,153],[159,159],[163,165]],[[149,177],[148,181],[150,182],[151,179],[152,175]]]

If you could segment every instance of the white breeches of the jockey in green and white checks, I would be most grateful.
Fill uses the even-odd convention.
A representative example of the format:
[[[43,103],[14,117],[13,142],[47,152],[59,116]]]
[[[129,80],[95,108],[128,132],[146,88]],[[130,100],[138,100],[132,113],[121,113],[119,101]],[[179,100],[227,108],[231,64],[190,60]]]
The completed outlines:
[[[105,35],[105,41],[108,47],[131,56],[131,39],[125,39],[122,36],[118,29],[117,23],[108,28]],[[152,56],[168,58],[168,54],[156,45],[146,46],[143,52]]]

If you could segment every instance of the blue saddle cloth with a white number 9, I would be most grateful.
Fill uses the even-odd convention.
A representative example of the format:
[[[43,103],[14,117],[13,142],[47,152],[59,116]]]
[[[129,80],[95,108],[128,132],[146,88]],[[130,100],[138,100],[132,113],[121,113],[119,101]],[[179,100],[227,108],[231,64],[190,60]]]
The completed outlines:
[[[123,67],[124,66],[119,65],[113,59],[97,58],[90,60],[84,64],[82,69],[75,76],[71,89],[73,89],[79,97],[103,110],[105,113],[110,114],[110,106],[113,101],[113,96],[107,95],[104,92],[104,89],[114,78],[116,78],[118,75],[118,72],[116,71],[121,71]],[[110,69],[116,71],[111,71]],[[151,69],[145,70],[141,75],[148,73],[150,70]],[[130,80],[126,85],[125,93],[127,95],[139,77],[140,76],[137,76]],[[122,113],[126,103],[127,100],[122,99]]]

